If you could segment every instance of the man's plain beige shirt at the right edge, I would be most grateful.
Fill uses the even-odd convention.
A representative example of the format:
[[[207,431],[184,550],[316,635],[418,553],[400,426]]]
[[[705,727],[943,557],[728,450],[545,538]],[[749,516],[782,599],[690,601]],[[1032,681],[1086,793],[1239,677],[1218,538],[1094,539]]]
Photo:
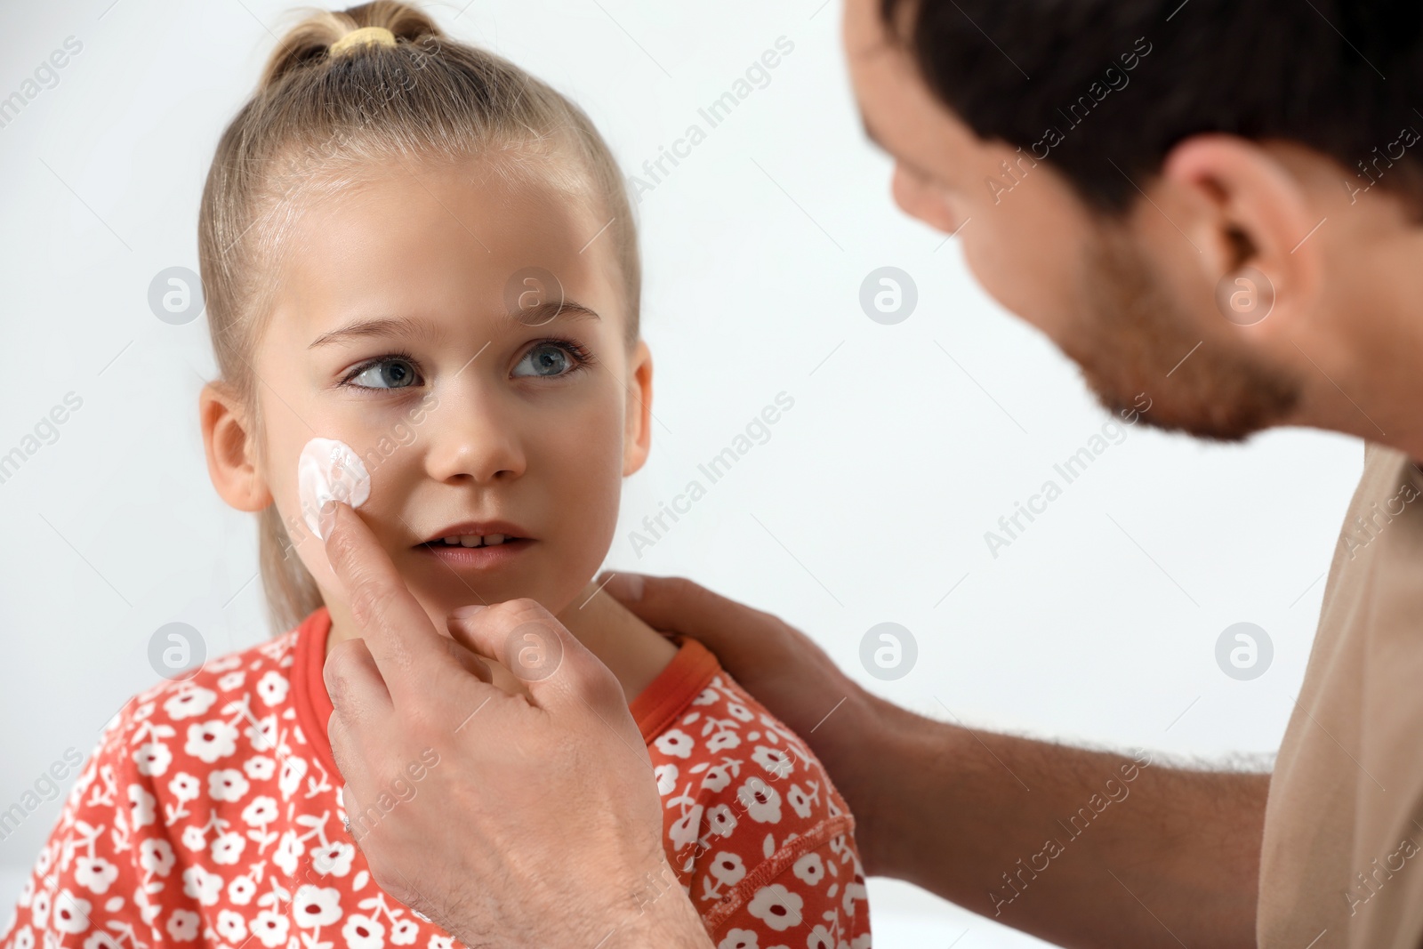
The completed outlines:
[[[1423,945],[1423,471],[1368,445],[1265,805],[1262,949]]]

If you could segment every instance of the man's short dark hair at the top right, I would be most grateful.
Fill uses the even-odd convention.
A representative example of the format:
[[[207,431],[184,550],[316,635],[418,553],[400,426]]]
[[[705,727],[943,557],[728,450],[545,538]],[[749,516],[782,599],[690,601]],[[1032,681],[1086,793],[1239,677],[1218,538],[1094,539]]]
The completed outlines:
[[[1292,139],[1338,159],[1350,192],[1423,198],[1419,0],[879,3],[979,137],[1046,158],[1103,211],[1198,132]]]

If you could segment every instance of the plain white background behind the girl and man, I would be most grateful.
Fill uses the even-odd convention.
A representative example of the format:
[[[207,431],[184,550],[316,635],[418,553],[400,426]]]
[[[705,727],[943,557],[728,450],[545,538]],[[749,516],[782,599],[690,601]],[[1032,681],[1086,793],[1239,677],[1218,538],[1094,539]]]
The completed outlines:
[[[889,165],[852,107],[838,4],[820,3],[477,0],[458,18],[457,4],[434,7],[457,37],[573,97],[628,171],[778,37],[794,43],[639,203],[659,424],[609,563],[690,575],[778,612],[929,716],[1204,761],[1271,754],[1360,444],[1282,431],[1220,447],[1136,428],[990,556],[983,532],[1107,415],[1070,363],[975,286],[956,242],[894,208]],[[0,97],[65,37],[83,43],[58,84],[0,128],[0,454],[65,393],[84,400],[0,484],[0,810],[65,748],[87,754],[155,680],[147,647],[161,625],[191,623],[209,654],[269,635],[255,519],[219,501],[203,465],[205,322],[165,324],[147,295],[159,270],[198,266],[213,147],[289,6],[110,4],[0,13]],[[896,326],[858,302],[885,265],[918,285]],[[781,391],[794,408],[771,438],[635,556],[628,531]],[[882,683],[864,673],[859,640],[887,620],[914,633],[919,656]],[[1254,682],[1214,659],[1241,620],[1275,646]],[[877,767],[874,748],[864,767]],[[0,841],[0,902],[58,807]],[[882,946],[1036,945],[908,885],[874,881],[871,906]]]

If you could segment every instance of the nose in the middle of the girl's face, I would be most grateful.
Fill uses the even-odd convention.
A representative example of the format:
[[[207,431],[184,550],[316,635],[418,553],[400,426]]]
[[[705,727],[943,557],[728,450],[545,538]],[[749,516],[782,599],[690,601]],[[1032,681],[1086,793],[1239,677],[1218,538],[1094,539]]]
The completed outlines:
[[[467,478],[487,485],[514,481],[527,458],[512,413],[501,411],[498,396],[487,391],[441,400],[431,413],[427,467],[435,481]]]

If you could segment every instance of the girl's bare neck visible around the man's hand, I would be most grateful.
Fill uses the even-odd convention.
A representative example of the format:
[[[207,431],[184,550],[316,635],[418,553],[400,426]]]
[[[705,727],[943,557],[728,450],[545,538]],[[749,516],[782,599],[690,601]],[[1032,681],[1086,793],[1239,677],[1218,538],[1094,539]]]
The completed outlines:
[[[333,606],[330,613],[332,629],[326,637],[327,656],[336,643],[354,637],[353,632],[349,632],[354,626],[344,605]],[[628,701],[638,697],[677,653],[677,647],[662,633],[633,616],[622,603],[599,590],[593,583],[588,583],[573,598],[573,602],[558,615],[558,619],[568,627],[568,632],[578,637],[578,642],[618,676]],[[435,629],[444,636],[448,635],[443,620],[437,622]],[[505,667],[492,663],[491,670],[494,684],[505,691],[528,694],[524,683]]]

